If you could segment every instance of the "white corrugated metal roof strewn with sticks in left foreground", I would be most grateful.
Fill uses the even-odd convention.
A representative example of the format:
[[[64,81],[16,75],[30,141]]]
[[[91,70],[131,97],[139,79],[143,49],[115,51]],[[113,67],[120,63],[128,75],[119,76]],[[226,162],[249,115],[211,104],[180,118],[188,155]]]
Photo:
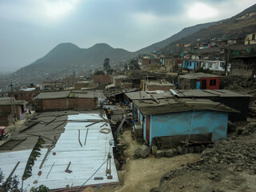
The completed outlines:
[[[112,133],[102,134],[99,132],[102,128],[110,129],[110,124],[98,122],[92,126],[89,120],[102,120],[99,114],[78,114],[69,115],[68,122],[64,133],[61,134],[56,146],[50,151],[42,166],[42,174],[38,176],[39,166],[46,154],[46,149],[41,150],[41,156],[35,161],[32,168],[32,176],[24,181],[25,190],[30,190],[32,186],[38,187],[45,185],[50,189],[66,188],[69,186],[81,186],[96,170],[106,162],[107,154],[110,152],[111,158],[111,174],[113,179],[106,178],[106,163],[98,170],[94,177],[103,177],[103,180],[94,180],[94,177],[86,183],[86,185],[98,185],[102,183],[118,182],[118,174],[114,164],[114,155],[112,146],[109,142],[113,139]],[[88,122],[84,122],[87,120]],[[88,126],[88,127],[86,127]],[[100,127],[102,126],[102,127]],[[86,132],[88,130],[87,138]],[[80,141],[78,142],[78,130],[80,130]],[[86,145],[84,146],[86,138]],[[0,153],[0,167],[6,177],[10,174],[16,163],[20,161],[20,165],[14,174],[18,175],[21,181],[23,171],[26,166],[26,161],[30,155],[30,150],[15,151],[9,153]],[[56,153],[54,155],[53,153]],[[71,162],[69,170],[72,173],[65,172],[68,163]],[[54,166],[53,166],[54,165]],[[50,173],[50,174],[49,174]],[[49,176],[47,177],[47,175]],[[34,180],[38,182],[33,184]],[[20,183],[21,185],[21,183]]]

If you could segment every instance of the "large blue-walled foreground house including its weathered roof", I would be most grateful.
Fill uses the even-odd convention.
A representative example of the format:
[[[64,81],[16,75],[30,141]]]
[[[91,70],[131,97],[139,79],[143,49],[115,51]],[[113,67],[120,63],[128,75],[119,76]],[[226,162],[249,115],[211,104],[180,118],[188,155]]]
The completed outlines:
[[[170,142],[170,147],[186,140],[216,142],[226,139],[228,114],[238,112],[208,99],[179,98],[175,101],[165,98],[158,102],[134,101],[143,137],[150,147],[154,142],[162,142],[163,138]]]

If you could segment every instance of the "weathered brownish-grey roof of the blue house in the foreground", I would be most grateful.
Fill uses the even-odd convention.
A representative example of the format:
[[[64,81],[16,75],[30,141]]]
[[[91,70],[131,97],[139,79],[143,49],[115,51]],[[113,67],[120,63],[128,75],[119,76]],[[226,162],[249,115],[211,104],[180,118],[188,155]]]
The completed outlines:
[[[190,99],[190,98],[179,98],[178,102],[174,98],[158,99],[159,104],[152,101],[138,100],[134,101],[134,105],[138,107],[138,110],[144,115],[151,114],[166,114],[176,113],[189,110],[215,110],[222,112],[239,112],[228,106],[221,104],[220,102],[212,102],[209,99]]]

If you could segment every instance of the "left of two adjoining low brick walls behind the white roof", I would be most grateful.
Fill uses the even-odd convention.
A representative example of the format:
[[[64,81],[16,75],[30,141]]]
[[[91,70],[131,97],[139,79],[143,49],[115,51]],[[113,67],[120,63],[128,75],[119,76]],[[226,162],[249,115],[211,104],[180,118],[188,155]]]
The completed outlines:
[[[66,110],[66,98],[42,100],[42,110]]]

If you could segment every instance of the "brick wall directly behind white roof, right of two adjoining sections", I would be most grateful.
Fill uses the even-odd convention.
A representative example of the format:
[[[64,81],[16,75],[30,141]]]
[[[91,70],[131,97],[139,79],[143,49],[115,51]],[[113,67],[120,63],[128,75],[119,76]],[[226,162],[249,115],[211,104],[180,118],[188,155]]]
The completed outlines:
[[[95,98],[70,98],[71,110],[93,110],[95,106]]]

